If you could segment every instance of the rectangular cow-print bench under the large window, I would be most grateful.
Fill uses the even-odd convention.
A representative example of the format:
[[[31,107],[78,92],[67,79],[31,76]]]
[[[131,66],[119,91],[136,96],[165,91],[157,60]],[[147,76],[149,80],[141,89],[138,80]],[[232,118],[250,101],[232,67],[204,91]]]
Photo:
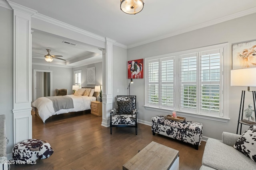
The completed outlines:
[[[203,125],[192,121],[178,122],[158,115],[152,117],[152,133],[164,135],[182,142],[190,143],[198,150],[202,141]]]

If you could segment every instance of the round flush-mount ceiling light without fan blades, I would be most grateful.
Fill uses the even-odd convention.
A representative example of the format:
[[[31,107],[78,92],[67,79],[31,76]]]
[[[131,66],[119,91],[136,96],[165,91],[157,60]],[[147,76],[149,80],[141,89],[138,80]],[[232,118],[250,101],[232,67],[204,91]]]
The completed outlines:
[[[144,7],[143,0],[120,0],[120,8],[126,14],[137,14]]]

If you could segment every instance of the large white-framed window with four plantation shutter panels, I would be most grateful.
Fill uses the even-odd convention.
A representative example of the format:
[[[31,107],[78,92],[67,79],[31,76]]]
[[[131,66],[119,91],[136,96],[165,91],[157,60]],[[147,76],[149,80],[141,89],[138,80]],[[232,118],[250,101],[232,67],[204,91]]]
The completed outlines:
[[[227,117],[223,111],[227,47],[225,43],[146,58],[145,106]]]

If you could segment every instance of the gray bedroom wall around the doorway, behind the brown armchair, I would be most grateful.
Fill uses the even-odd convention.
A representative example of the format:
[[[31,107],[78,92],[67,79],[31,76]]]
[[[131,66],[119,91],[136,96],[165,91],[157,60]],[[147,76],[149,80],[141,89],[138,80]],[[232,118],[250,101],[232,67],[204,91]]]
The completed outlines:
[[[56,67],[56,66],[43,66],[32,64],[32,74],[33,70],[52,70],[52,95],[55,95],[55,89],[67,88],[68,94],[73,94],[72,85],[73,85],[73,72],[72,68],[65,67]],[[33,76],[32,76],[33,83]],[[33,86],[32,86],[33,87]],[[33,95],[33,94],[32,94]]]

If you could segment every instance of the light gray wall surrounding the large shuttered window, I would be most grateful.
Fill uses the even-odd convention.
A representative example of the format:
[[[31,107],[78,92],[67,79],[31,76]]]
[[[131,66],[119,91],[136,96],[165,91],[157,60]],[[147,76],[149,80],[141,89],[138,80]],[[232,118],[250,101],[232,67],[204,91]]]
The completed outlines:
[[[128,49],[127,60],[141,59],[145,57],[151,57],[156,55],[168,54],[177,51],[184,51],[188,49],[194,49],[198,47],[205,47],[209,45],[216,45],[220,43],[229,43],[229,56],[230,63],[226,63],[225,67],[229,70],[232,69],[232,44],[250,41],[256,39],[255,34],[255,21],[256,14],[244,16],[234,20],[226,21],[188,33],[183,33],[173,37],[168,37],[159,41],[154,41],[145,45]],[[126,67],[127,68],[127,67]],[[230,80],[230,73],[224,73],[224,78]],[[127,81],[128,82],[128,81]],[[228,81],[229,82],[229,81]],[[135,86],[136,84],[136,86]],[[151,117],[155,115],[167,115],[165,112],[150,111],[143,107],[144,105],[144,79],[134,79],[134,85],[131,87],[131,94],[137,95],[139,115],[138,119],[143,121],[151,122]],[[225,84],[225,86],[230,86]],[[215,139],[221,139],[223,131],[236,133],[238,113],[240,106],[241,90],[246,90],[242,87],[230,87],[229,88],[229,117],[228,123],[219,121],[212,121],[207,119],[200,119],[194,117],[186,117],[186,120],[196,121],[203,123],[203,135],[205,137],[212,137]],[[245,108],[249,103],[252,103],[252,95],[247,95],[247,101]],[[227,99],[224,99],[227,100]],[[247,129],[248,126],[244,125],[242,131]]]

